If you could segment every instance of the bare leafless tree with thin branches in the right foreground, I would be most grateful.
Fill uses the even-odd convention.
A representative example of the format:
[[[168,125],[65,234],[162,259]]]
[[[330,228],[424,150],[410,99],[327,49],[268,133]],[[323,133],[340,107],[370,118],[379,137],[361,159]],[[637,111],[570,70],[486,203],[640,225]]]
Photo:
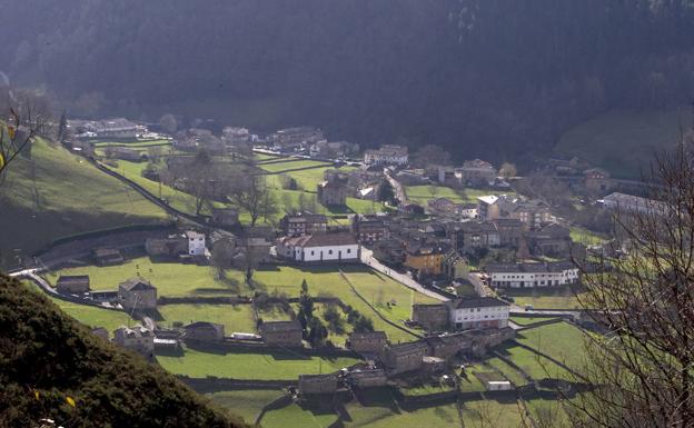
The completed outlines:
[[[692,427],[694,424],[694,151],[678,145],[653,168],[650,201],[615,215],[628,256],[584,276],[595,322],[587,336],[589,394],[568,402],[574,426]]]

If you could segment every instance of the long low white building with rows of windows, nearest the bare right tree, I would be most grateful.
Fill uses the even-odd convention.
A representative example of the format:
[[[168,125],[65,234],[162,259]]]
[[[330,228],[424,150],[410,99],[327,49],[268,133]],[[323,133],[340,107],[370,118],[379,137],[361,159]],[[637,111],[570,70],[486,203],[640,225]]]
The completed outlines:
[[[578,268],[571,262],[489,265],[489,281],[498,288],[557,287],[578,282]]]

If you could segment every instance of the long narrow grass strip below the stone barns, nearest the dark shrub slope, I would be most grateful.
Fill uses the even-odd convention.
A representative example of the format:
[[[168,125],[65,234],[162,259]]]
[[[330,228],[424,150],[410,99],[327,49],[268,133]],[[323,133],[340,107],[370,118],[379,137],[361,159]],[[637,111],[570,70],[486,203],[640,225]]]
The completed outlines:
[[[182,357],[158,356],[168,371],[195,378],[297,379],[299,375],[328,374],[359,362],[355,358],[304,357],[290,352],[215,351],[186,348]]]

